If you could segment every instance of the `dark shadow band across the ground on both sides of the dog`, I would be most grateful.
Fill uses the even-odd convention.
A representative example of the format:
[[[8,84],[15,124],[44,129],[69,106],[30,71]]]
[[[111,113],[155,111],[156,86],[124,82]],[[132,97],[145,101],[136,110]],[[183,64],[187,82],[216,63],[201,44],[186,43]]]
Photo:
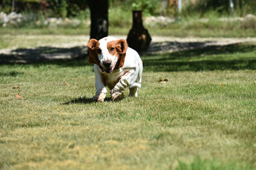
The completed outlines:
[[[212,71],[256,69],[255,43],[235,43],[231,45],[207,45],[207,43],[211,42],[166,41],[152,43],[151,49],[141,54],[143,70]],[[162,52],[163,48],[182,51],[159,53]],[[12,50],[7,54],[0,53],[0,65],[10,64],[31,64],[33,66],[54,64],[64,67],[92,66],[87,61],[87,48],[85,46],[72,48],[42,46]]]

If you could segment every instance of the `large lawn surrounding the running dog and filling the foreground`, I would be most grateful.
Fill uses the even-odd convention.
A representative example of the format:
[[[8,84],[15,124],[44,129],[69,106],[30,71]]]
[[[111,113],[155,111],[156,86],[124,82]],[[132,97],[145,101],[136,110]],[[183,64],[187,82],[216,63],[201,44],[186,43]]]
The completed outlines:
[[[139,97],[105,103],[86,60],[1,64],[0,167],[255,169],[255,53],[143,54]]]

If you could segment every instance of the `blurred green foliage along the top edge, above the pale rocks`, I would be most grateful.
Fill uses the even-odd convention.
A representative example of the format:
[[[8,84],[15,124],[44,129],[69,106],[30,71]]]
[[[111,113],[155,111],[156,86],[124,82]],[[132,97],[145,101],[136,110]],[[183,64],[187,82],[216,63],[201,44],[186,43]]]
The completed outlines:
[[[0,11],[10,13],[12,11],[13,0],[0,1]],[[42,12],[45,17],[77,17],[81,11],[86,10],[86,1],[93,0],[14,0],[15,11]],[[107,0],[106,0],[107,1]],[[109,10],[117,10],[118,13],[131,10],[143,10],[143,15],[168,15],[177,17],[176,6],[168,6],[168,0],[108,0]],[[255,15],[256,1],[233,0],[234,15],[245,16],[248,13]],[[172,9],[171,9],[172,8]],[[170,12],[175,11],[175,12]],[[223,0],[184,0],[182,1],[182,16],[205,17],[209,13],[214,13],[217,17],[230,15],[230,1]]]

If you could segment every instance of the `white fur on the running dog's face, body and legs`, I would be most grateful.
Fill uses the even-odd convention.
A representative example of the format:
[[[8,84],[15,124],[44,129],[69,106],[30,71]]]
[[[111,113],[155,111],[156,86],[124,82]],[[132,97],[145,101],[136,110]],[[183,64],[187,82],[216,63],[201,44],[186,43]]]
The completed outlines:
[[[115,67],[117,57],[111,55],[107,48],[108,42],[115,40],[116,38],[110,36],[99,40],[99,48],[102,50],[102,53],[98,54],[100,66],[104,67],[102,65],[103,61],[111,60],[111,67]],[[137,97],[138,88],[141,87],[142,71],[143,65],[140,55],[129,47],[125,55],[124,66],[119,69],[113,69],[112,73],[106,73],[97,64],[94,64],[96,94],[93,99],[104,101],[106,97],[107,89],[102,82],[102,76],[106,78],[106,86],[111,90],[113,100],[122,96],[126,87],[129,87],[129,96]],[[119,81],[118,78],[120,78]]]

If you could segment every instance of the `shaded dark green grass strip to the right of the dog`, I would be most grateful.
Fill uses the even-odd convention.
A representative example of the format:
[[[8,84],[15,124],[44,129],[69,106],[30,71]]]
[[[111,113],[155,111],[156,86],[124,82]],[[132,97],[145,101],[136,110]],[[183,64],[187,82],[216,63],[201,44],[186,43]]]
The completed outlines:
[[[143,59],[145,57],[145,59]],[[256,45],[236,43],[172,53],[142,55],[144,71],[256,69]]]

